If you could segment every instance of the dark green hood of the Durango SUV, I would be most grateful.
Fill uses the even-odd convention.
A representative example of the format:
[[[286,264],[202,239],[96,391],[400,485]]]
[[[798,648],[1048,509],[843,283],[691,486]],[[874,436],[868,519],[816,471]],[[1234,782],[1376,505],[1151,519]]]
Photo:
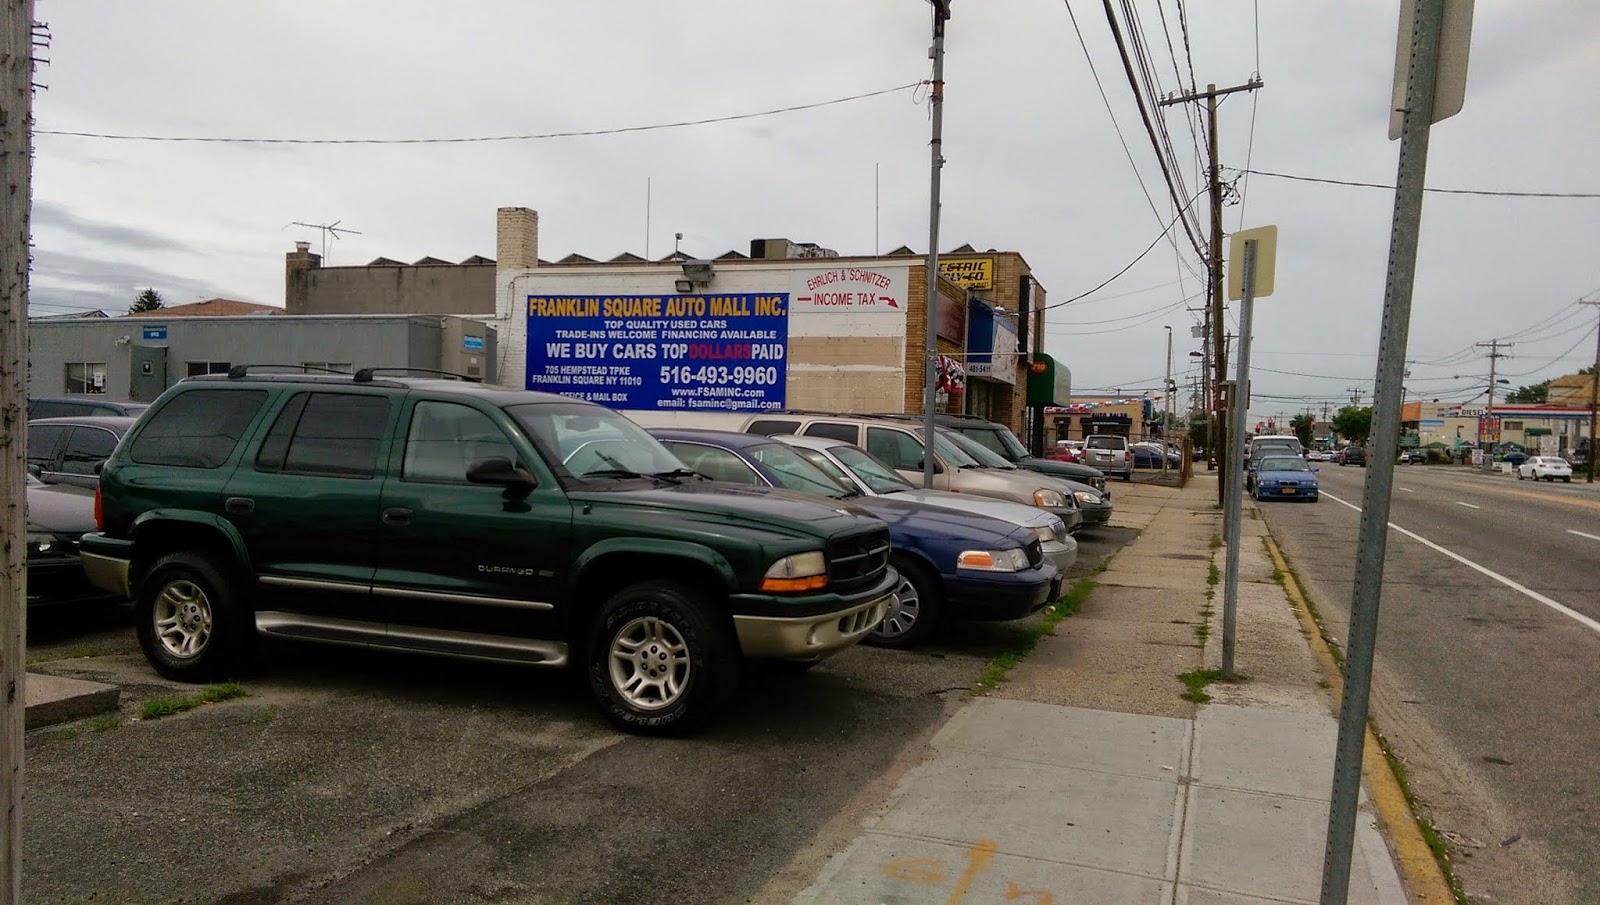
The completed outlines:
[[[595,508],[654,512],[666,518],[744,524],[782,536],[826,539],[840,531],[859,531],[872,515],[851,505],[794,491],[699,481],[637,491],[571,491],[568,497]]]

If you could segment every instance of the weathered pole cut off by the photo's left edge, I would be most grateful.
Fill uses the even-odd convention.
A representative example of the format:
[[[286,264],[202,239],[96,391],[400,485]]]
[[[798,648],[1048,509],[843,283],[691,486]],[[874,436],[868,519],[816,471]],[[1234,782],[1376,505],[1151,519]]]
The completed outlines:
[[[5,0],[0,56],[0,905],[22,899],[27,715],[27,237],[34,0]]]

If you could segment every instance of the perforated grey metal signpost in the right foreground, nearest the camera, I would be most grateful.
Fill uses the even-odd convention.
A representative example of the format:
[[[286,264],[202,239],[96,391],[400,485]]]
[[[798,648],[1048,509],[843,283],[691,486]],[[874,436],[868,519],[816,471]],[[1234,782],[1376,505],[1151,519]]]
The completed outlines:
[[[1438,75],[1438,37],[1445,0],[1418,0],[1411,19],[1411,62],[1406,74],[1395,177],[1395,211],[1389,235],[1389,278],[1378,345],[1378,387],[1373,398],[1373,446],[1400,443],[1400,384],[1411,333],[1411,285],[1422,224],[1422,185],[1427,173],[1429,125],[1434,122],[1434,82]],[[1362,528],[1355,550],[1355,588],[1350,593],[1350,638],[1339,704],[1339,744],[1333,764],[1333,803],[1328,807],[1326,851],[1322,863],[1322,905],[1344,905],[1350,891],[1350,852],[1355,846],[1355,807],[1362,793],[1362,750],[1366,744],[1366,704],[1378,641],[1378,606],[1384,590],[1389,545],[1389,497],[1395,459],[1373,456],[1362,491]]]

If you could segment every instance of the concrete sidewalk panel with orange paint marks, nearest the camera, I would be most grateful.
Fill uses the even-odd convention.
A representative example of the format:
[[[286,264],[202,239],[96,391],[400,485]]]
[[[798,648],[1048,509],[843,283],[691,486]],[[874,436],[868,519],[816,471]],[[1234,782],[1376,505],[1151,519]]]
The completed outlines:
[[[949,844],[869,833],[835,855],[795,905],[944,905],[963,902],[1168,902],[1171,886],[1152,878]]]

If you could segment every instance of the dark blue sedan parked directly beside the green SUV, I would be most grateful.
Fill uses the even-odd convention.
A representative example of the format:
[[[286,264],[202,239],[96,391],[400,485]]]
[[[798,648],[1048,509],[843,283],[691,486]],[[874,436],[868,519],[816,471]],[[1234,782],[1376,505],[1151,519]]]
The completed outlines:
[[[1022,619],[1061,598],[1061,571],[1030,528],[845,489],[794,446],[760,433],[658,427],[651,435],[714,480],[850,499],[882,518],[901,584],[872,628],[874,644],[914,648],[944,619]]]

